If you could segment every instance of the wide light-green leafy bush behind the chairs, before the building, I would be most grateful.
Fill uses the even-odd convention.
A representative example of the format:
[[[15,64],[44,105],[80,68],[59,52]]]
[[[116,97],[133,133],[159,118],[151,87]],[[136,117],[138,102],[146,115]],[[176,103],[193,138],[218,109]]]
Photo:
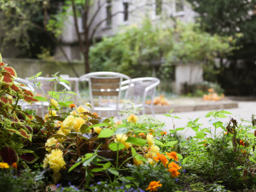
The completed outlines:
[[[94,71],[118,71],[131,77],[148,76],[155,63],[163,62],[158,76],[170,78],[173,64],[200,62],[208,67],[216,57],[230,54],[234,43],[232,38],[202,32],[195,24],[177,21],[169,28],[147,19],[95,44],[90,62]]]

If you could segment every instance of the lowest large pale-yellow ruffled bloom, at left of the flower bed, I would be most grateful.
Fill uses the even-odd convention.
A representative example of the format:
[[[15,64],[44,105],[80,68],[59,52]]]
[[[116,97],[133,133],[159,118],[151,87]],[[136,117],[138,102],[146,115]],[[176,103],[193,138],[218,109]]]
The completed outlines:
[[[44,167],[49,165],[54,172],[60,172],[61,168],[66,165],[63,159],[63,152],[59,148],[51,150],[50,154],[46,155],[44,160]]]

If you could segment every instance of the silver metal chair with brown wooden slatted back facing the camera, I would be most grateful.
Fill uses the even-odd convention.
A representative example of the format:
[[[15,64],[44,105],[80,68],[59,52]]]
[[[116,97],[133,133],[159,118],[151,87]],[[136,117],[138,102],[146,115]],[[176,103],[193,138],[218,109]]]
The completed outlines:
[[[108,115],[110,112],[115,112],[119,117],[121,84],[125,80],[128,90],[131,84],[131,79],[127,75],[115,72],[96,72],[84,74],[79,80],[89,83],[90,103],[93,111],[108,112]]]

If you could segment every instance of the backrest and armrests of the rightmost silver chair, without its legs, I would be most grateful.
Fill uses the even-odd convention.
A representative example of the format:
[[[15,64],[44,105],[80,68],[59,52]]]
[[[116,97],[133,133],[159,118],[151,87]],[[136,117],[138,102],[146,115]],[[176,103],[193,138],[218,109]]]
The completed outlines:
[[[122,84],[123,90],[126,89],[126,83]],[[150,104],[153,103],[155,88],[158,84],[160,84],[160,79],[153,77],[131,79],[131,89],[128,91],[129,99],[136,104],[142,103],[145,105],[149,96]]]

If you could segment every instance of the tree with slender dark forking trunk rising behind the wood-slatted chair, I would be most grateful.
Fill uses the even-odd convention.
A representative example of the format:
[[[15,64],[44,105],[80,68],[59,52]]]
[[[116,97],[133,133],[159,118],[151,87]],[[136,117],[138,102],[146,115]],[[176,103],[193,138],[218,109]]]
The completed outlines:
[[[129,14],[131,14],[137,10],[147,8],[148,6],[152,9],[154,3],[156,3],[154,0],[131,0],[129,1],[128,10],[117,10],[115,12],[109,12],[108,17],[99,17],[101,11],[106,8],[106,4],[109,2],[123,3],[121,0],[60,0],[58,3],[54,0],[0,0],[2,4],[0,12],[2,12],[4,18],[7,18],[1,26],[9,26],[6,31],[15,33],[15,35],[10,35],[9,38],[5,38],[6,40],[15,39],[16,42],[20,42],[20,39],[22,39],[22,44],[26,44],[28,42],[27,40],[31,39],[30,35],[28,35],[28,26],[41,32],[43,31],[59,46],[62,55],[64,55],[65,59],[72,67],[72,62],[61,46],[61,32],[64,20],[67,20],[68,15],[72,15],[73,25],[78,37],[79,49],[84,57],[85,73],[89,73],[89,50],[99,27],[102,26],[104,22],[109,21],[109,18],[124,14],[125,11],[129,11]],[[172,0],[165,1],[166,4],[170,2],[172,2]],[[157,3],[159,3],[159,1],[157,1]],[[51,12],[51,7],[57,5],[59,6],[59,12],[55,15]],[[164,6],[164,3],[162,6]],[[35,13],[38,12],[43,13],[43,16],[41,15],[40,25],[33,20]],[[83,17],[83,33],[79,32],[79,17]],[[14,18],[15,20],[13,20]],[[9,20],[13,20],[14,22],[9,22]],[[32,46],[31,44],[26,44],[26,47],[31,48]],[[73,71],[78,76],[74,68]]]

